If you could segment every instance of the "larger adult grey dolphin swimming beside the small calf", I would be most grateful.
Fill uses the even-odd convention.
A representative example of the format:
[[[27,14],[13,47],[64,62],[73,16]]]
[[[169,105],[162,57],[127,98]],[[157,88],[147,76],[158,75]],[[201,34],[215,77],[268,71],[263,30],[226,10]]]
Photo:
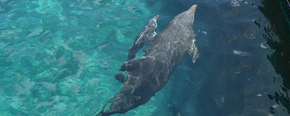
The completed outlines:
[[[122,64],[119,71],[127,71],[124,87],[106,102],[97,116],[124,114],[147,103],[166,85],[176,67],[182,63],[186,52],[195,63],[199,55],[192,27],[195,9],[196,5],[193,5],[175,16],[157,38],[143,49],[144,52],[149,50],[144,56]]]

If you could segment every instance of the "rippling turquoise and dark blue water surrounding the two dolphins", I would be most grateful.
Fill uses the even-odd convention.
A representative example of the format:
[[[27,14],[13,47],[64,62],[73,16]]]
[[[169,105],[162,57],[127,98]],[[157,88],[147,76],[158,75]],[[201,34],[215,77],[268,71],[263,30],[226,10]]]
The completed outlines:
[[[121,90],[113,77],[147,21],[160,15],[159,34],[193,4],[200,58],[186,55],[162,90],[124,116],[287,115],[289,36],[278,2],[266,0],[1,0],[0,115],[99,113]]]

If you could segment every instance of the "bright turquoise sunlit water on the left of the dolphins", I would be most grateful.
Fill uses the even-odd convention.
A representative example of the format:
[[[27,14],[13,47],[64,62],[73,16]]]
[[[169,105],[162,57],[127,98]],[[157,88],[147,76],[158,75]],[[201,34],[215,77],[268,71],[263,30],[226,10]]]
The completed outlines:
[[[126,51],[115,44],[131,44],[151,14],[138,1],[0,3],[0,115],[95,115],[122,88],[108,48]]]

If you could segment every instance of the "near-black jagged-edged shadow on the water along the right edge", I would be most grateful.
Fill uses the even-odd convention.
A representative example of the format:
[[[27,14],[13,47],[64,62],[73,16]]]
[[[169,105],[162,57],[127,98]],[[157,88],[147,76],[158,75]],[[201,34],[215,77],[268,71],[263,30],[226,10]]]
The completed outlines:
[[[271,62],[278,75],[281,75],[283,82],[280,90],[276,90],[273,95],[268,94],[270,99],[275,99],[277,104],[283,105],[290,114],[290,30],[286,17],[284,17],[280,1],[262,0],[259,10],[270,23],[264,27],[264,39],[266,44],[275,50],[267,59]],[[258,25],[258,23],[257,23]],[[275,83],[275,78],[273,77]],[[271,107],[271,110],[273,108]]]

